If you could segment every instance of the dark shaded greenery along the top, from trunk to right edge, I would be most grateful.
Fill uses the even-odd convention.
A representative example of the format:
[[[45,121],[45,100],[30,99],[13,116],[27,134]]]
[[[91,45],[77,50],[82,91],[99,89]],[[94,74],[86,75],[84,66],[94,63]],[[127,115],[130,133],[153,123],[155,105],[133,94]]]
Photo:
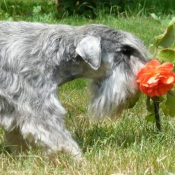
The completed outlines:
[[[56,0],[58,3],[59,16],[67,12],[69,15],[83,15],[88,18],[97,17],[97,11],[103,10],[105,13],[115,15],[149,15],[173,14],[175,11],[175,1],[173,0]]]

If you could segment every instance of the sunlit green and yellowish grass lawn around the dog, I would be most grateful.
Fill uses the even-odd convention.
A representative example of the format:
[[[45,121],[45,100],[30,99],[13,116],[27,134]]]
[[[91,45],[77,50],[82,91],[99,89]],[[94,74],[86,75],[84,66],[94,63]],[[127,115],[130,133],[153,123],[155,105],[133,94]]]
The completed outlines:
[[[0,2],[0,20],[25,20],[47,23],[83,25],[105,24],[115,29],[126,30],[140,37],[149,49],[154,37],[165,26],[150,16],[98,14],[96,19],[74,15],[56,19],[53,3],[34,3],[29,10],[20,8],[21,1],[13,5]],[[14,1],[15,2],[15,1]],[[26,1],[27,2],[27,1]],[[28,1],[30,2],[30,1]],[[44,8],[44,3],[48,8]],[[43,6],[43,7],[42,7]],[[30,10],[31,9],[31,10]],[[163,17],[162,17],[163,18]],[[157,133],[155,124],[147,122],[145,97],[134,108],[123,112],[117,121],[95,123],[88,119],[88,81],[84,79],[67,83],[59,88],[59,99],[68,111],[66,125],[79,143],[84,159],[73,161],[58,153],[51,161],[42,157],[40,150],[31,150],[29,155],[12,157],[0,130],[0,174],[2,175],[173,175],[175,173],[175,119],[161,114],[162,132]]]

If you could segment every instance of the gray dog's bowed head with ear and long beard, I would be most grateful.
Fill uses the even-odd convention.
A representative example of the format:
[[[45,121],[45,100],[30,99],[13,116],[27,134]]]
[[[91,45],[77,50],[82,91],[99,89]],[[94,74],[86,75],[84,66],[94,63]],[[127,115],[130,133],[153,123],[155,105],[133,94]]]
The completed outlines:
[[[138,95],[137,74],[148,61],[147,51],[130,33],[93,27],[76,48],[94,73],[89,111],[95,117],[116,116]]]

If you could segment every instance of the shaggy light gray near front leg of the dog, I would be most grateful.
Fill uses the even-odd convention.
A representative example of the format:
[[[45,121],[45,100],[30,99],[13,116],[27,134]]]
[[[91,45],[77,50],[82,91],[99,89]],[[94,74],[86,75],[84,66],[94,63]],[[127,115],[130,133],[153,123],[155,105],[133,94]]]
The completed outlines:
[[[81,150],[65,128],[64,114],[64,108],[51,95],[51,99],[44,102],[41,111],[33,112],[32,116],[21,117],[25,118],[18,124],[23,139],[32,146],[41,147],[44,155],[52,156],[57,151],[62,151],[79,159]]]

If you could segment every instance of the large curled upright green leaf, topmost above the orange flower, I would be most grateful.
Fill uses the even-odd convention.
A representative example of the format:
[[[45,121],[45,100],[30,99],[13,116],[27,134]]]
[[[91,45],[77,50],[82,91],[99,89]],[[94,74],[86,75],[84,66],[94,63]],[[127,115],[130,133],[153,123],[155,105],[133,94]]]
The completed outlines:
[[[164,34],[156,38],[156,47],[170,47],[174,42],[174,23],[170,22]]]

